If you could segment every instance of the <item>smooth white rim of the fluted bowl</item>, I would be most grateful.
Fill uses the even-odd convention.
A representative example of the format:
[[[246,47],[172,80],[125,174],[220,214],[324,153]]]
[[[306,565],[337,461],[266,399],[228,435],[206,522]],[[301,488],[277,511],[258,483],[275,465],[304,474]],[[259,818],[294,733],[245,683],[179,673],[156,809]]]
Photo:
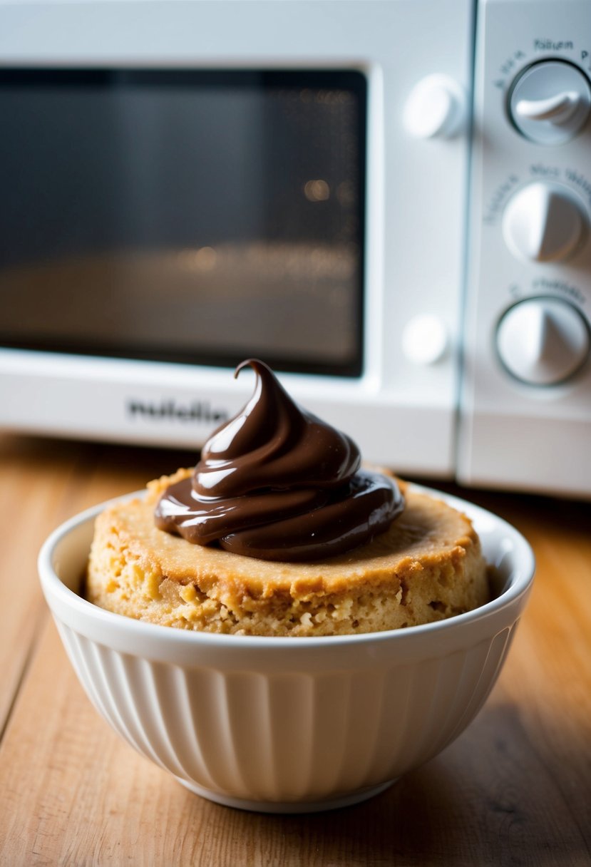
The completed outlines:
[[[162,626],[159,623],[135,620],[133,617],[127,617],[116,614],[114,611],[102,609],[98,605],[88,602],[87,599],[84,599],[74,590],[70,590],[55,571],[54,558],[57,546],[70,533],[77,530],[81,525],[94,521],[94,518],[110,505],[145,496],[146,489],[143,489],[90,506],[83,512],[78,512],[73,517],[68,518],[68,520],[57,526],[49,534],[49,537],[42,544],[37,558],[37,570],[43,594],[54,616],[57,615],[54,605],[50,601],[52,599],[58,600],[59,603],[67,606],[73,613],[77,613],[79,616],[85,618],[91,618],[97,625],[102,624],[106,629],[106,634],[113,629],[117,629],[118,631],[122,629],[127,635],[134,634],[138,639],[153,639],[154,641],[166,641],[172,644],[182,643],[186,645],[188,643],[195,646],[209,645],[210,647],[216,647],[221,644],[235,648],[242,646],[243,648],[249,647],[251,649],[285,649],[289,647],[291,650],[298,648],[309,650],[319,647],[338,647],[367,642],[409,642],[414,639],[422,641],[424,636],[443,636],[443,634],[449,633],[451,630],[458,629],[462,624],[468,625],[477,621],[484,621],[489,616],[497,616],[501,610],[515,605],[523,596],[529,593],[536,572],[536,560],[531,545],[520,531],[516,530],[508,521],[499,518],[493,512],[468,500],[415,483],[408,483],[408,486],[413,491],[426,493],[443,500],[459,512],[464,512],[468,518],[475,520],[475,524],[478,518],[484,522],[493,521],[499,530],[504,531],[506,537],[510,538],[514,547],[518,549],[520,561],[523,560],[520,570],[518,570],[516,577],[509,583],[509,586],[505,587],[490,602],[478,606],[477,609],[445,618],[445,620],[409,626],[405,629],[384,629],[379,632],[363,632],[339,636],[239,636],[192,629],[173,629],[170,626]]]

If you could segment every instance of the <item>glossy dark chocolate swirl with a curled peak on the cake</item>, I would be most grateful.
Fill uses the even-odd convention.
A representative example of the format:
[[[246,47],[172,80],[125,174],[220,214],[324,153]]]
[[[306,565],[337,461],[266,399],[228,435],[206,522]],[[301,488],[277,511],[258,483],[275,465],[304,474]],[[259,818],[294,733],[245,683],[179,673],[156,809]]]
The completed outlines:
[[[360,469],[353,440],[298,407],[270,368],[246,406],[218,427],[192,477],[161,495],[160,530],[262,560],[306,561],[349,551],[385,531],[404,507],[395,481]]]

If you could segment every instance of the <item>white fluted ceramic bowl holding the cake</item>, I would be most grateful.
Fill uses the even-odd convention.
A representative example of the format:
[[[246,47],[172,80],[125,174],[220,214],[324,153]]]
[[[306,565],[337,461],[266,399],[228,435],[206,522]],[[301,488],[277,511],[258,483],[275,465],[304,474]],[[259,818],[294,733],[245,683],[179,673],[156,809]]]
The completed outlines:
[[[106,504],[48,538],[42,588],[94,707],[193,792],[264,812],[353,804],[431,759],[474,718],[531,587],[534,557],[513,527],[437,496],[472,518],[498,587],[481,608],[426,626],[265,638],[112,614],[76,592]]]

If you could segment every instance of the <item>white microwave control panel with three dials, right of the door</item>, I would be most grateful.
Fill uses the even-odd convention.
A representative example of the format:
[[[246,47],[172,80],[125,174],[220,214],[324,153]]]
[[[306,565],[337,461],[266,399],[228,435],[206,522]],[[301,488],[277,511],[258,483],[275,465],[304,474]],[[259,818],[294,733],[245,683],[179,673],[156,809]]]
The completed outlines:
[[[590,3],[481,4],[458,450],[470,484],[591,492],[590,76]]]

